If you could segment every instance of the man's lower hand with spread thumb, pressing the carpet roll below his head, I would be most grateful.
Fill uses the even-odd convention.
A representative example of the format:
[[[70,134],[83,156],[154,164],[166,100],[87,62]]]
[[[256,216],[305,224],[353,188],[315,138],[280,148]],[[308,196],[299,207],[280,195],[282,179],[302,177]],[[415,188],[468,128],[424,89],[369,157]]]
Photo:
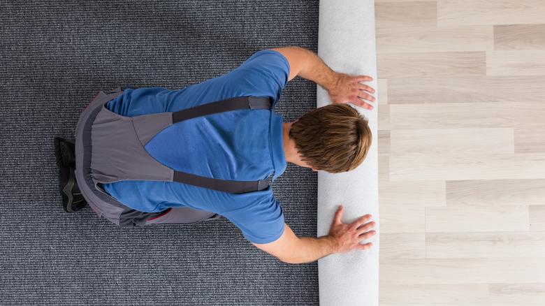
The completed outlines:
[[[354,249],[363,250],[372,247],[371,242],[361,244],[363,240],[367,240],[377,234],[376,231],[371,231],[376,225],[375,222],[366,223],[372,216],[366,214],[351,224],[344,224],[341,221],[343,210],[344,207],[340,206],[337,212],[335,212],[333,224],[331,224],[328,234],[337,245],[335,253],[347,253],[354,251]]]

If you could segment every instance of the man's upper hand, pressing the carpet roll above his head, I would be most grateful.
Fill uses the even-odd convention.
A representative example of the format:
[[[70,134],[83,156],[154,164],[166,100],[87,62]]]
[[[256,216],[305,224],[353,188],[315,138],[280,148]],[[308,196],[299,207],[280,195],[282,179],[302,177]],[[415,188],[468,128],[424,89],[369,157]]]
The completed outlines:
[[[372,110],[369,102],[375,102],[375,89],[361,82],[370,82],[373,78],[366,75],[352,76],[344,73],[337,73],[337,82],[328,88],[329,97],[333,103],[354,103],[362,108]],[[368,94],[370,93],[370,94]]]

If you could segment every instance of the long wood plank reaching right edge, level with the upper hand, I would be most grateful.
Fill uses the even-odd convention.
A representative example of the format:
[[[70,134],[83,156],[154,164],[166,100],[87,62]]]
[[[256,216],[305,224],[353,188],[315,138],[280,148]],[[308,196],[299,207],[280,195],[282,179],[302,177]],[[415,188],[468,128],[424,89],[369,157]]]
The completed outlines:
[[[545,75],[391,79],[388,103],[542,103],[544,84]]]

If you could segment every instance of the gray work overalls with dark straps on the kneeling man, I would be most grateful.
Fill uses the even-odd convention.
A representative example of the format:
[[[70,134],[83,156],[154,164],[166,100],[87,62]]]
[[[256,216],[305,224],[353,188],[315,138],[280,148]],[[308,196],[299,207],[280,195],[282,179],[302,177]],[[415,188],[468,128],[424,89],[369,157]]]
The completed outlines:
[[[75,131],[75,176],[87,203],[99,215],[119,226],[146,224],[190,224],[218,219],[219,215],[189,207],[162,212],[140,212],[112,198],[101,184],[123,180],[179,182],[230,194],[244,194],[268,188],[268,180],[240,182],[182,173],[164,166],[144,146],[166,127],[185,119],[242,109],[270,109],[270,99],[237,97],[180,110],[125,117],[106,108],[122,94],[121,87],[100,92],[85,108]]]

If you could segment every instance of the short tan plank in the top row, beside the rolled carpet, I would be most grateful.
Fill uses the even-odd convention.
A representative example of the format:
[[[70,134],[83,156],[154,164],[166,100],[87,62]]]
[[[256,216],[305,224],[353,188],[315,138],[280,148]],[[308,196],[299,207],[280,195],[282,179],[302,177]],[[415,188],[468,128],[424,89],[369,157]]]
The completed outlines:
[[[437,25],[437,2],[375,3],[375,27]]]

